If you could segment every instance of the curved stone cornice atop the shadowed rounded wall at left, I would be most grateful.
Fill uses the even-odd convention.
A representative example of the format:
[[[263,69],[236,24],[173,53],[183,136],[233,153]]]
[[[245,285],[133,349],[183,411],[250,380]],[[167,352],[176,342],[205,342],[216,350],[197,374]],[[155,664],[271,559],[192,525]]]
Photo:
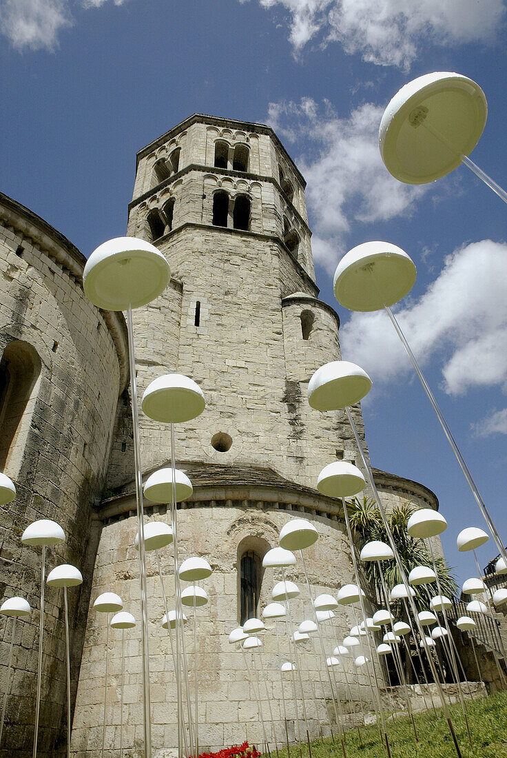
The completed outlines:
[[[23,240],[28,240],[33,247],[44,252],[48,258],[58,264],[70,280],[79,287],[83,287],[83,269],[86,258],[67,240],[67,237],[29,208],[25,208],[20,202],[3,193],[0,193],[0,219],[5,227],[11,228]],[[128,381],[127,324],[124,315],[120,312],[98,310],[104,318],[117,352],[120,367],[120,393],[122,393]]]

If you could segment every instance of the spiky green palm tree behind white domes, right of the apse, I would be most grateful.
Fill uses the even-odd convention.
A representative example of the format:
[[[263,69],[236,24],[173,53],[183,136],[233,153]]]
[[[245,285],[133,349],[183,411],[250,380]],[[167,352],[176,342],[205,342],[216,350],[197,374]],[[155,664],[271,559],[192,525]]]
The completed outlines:
[[[361,501],[355,497],[353,500],[346,501],[346,507],[349,512],[350,526],[358,540],[359,549],[367,542],[371,542],[371,540],[381,540],[382,542],[389,543],[380,511],[374,500],[368,500],[367,497],[363,497]],[[416,508],[413,503],[408,501],[395,506],[387,514],[387,521],[393,533],[394,543],[398,549],[399,557],[407,576],[412,571],[412,568],[415,568],[417,565],[431,565],[431,556],[426,544],[423,540],[411,537],[407,531],[408,519],[415,510]],[[455,597],[458,585],[451,574],[449,566],[443,558],[437,558],[436,564],[443,594]],[[380,575],[377,563],[365,563],[363,564],[363,568],[371,587],[380,587]],[[394,561],[384,562],[382,570],[388,589],[392,589],[395,584],[401,583],[402,578]],[[434,590],[433,594],[437,594],[437,586],[435,585],[431,588]],[[427,609],[428,598],[425,587],[414,587],[414,589],[414,600],[418,610]],[[383,605],[383,600],[381,601],[381,605]]]

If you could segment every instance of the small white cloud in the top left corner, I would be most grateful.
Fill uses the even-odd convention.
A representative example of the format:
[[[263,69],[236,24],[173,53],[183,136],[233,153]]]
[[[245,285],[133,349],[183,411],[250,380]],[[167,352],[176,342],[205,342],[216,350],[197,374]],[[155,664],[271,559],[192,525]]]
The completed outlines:
[[[0,30],[17,49],[52,49],[69,23],[65,0],[0,0]]]

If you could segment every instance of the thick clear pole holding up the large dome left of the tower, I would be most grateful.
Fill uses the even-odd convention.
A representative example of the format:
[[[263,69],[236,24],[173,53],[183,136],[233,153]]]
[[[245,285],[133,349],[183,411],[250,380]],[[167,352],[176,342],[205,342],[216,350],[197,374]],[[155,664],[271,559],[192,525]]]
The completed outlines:
[[[139,584],[141,604],[141,646],[142,646],[142,713],[144,726],[145,758],[152,756],[152,718],[149,696],[149,638],[148,638],[148,590],[146,587],[146,552],[144,543],[144,506],[142,503],[142,468],[139,443],[139,408],[137,405],[136,356],[134,352],[132,306],[127,311],[127,334],[129,340],[130,394],[132,396],[132,425],[134,443],[134,464],[136,468],[136,511],[137,531],[139,531]]]

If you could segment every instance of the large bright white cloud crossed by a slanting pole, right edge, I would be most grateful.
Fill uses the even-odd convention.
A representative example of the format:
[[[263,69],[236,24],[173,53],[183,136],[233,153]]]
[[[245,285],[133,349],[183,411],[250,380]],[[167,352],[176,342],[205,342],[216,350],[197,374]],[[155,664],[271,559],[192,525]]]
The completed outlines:
[[[448,255],[437,279],[396,311],[422,366],[440,362],[446,393],[470,387],[507,390],[507,244],[471,243]],[[373,381],[412,371],[383,312],[353,313],[340,331],[343,356]]]

